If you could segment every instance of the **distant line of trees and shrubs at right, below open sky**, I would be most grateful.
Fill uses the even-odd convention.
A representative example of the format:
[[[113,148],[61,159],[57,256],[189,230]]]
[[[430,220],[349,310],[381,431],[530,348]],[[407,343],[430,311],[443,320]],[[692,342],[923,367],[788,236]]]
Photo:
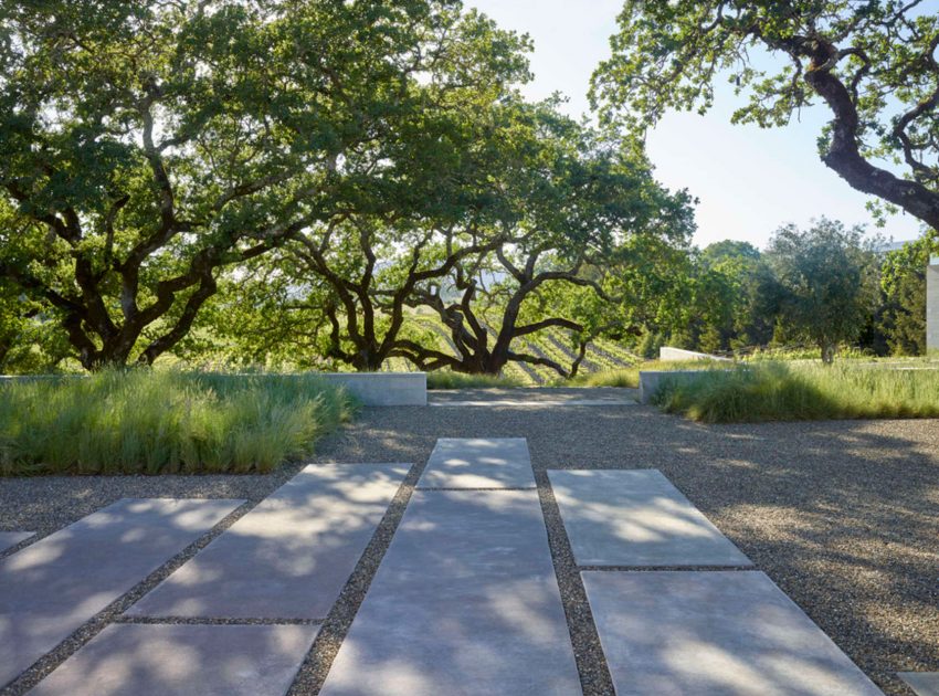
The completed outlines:
[[[820,219],[779,229],[764,251],[717,242],[686,259],[677,314],[645,327],[639,351],[663,344],[705,352],[810,346],[831,361],[842,346],[872,356],[926,354],[926,234],[898,250]]]

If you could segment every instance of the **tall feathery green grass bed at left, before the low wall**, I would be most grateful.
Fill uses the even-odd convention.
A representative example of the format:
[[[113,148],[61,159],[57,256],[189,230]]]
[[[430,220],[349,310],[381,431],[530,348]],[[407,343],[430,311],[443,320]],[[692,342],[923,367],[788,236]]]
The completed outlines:
[[[134,369],[0,386],[0,475],[268,472],[348,420],[304,375]]]

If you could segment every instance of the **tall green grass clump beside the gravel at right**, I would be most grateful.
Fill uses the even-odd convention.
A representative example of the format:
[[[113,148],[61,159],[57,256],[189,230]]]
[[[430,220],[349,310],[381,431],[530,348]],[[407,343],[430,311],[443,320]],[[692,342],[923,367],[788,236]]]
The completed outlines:
[[[939,418],[939,370],[758,362],[666,384],[655,401],[708,423]]]

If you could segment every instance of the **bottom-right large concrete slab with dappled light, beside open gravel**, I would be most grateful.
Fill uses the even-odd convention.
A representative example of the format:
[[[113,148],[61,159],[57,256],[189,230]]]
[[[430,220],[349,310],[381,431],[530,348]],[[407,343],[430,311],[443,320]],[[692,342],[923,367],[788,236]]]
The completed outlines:
[[[581,573],[619,696],[875,696],[762,572]]]

